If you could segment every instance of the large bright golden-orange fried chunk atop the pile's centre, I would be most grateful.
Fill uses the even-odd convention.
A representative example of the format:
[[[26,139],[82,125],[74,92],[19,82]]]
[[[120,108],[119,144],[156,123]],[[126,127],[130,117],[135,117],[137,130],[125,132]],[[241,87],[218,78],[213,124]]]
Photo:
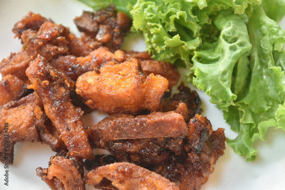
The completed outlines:
[[[89,107],[109,114],[156,111],[167,87],[164,77],[146,76],[135,58],[114,66],[105,65],[99,73],[84,73],[76,82],[76,92],[87,100]]]

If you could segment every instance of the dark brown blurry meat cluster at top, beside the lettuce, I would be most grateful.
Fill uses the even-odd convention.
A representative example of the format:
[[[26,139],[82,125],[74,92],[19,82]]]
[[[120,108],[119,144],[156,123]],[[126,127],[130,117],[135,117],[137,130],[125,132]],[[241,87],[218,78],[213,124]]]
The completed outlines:
[[[111,50],[121,47],[123,37],[131,28],[131,19],[123,12],[116,14],[114,5],[96,12],[84,11],[82,16],[74,19],[74,22],[86,36],[95,38],[100,46],[106,46]]]

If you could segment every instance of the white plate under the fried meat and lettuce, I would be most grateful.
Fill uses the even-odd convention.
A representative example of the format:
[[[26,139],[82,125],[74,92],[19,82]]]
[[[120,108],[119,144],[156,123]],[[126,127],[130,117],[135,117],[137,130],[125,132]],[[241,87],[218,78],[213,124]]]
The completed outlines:
[[[4,10],[4,11],[3,11]],[[82,10],[91,10],[76,0],[1,0],[0,1],[0,58],[6,58],[10,52],[17,52],[21,48],[18,39],[14,39],[11,32],[13,25],[28,11],[40,13],[52,19],[55,23],[62,23],[77,33],[73,19],[82,14]],[[285,28],[285,19],[281,22]],[[125,49],[143,51],[145,44],[142,38],[129,39],[123,46]],[[192,89],[196,89],[192,86]],[[213,128],[226,128],[229,138],[237,134],[229,130],[223,114],[214,105],[209,103],[209,97],[198,91],[203,101],[203,115],[207,116]],[[95,116],[94,116],[95,115]],[[84,116],[84,124],[91,125],[106,115],[93,114]],[[0,126],[3,127],[3,126]],[[273,131],[273,132],[272,132]],[[271,133],[271,134],[270,134]],[[269,135],[270,134],[270,135]],[[274,138],[272,138],[274,136]],[[254,162],[245,162],[244,158],[236,155],[226,146],[225,155],[217,161],[214,172],[201,190],[218,189],[258,189],[258,190],[285,190],[285,132],[270,130],[266,142],[257,142],[260,147],[257,159]],[[3,145],[0,145],[3,146]],[[14,164],[9,165],[9,186],[4,185],[4,165],[0,164],[0,189],[4,190],[48,190],[50,189],[37,175],[37,167],[48,167],[48,161],[54,152],[43,143],[17,143],[15,145]],[[87,186],[87,189],[94,189]]]

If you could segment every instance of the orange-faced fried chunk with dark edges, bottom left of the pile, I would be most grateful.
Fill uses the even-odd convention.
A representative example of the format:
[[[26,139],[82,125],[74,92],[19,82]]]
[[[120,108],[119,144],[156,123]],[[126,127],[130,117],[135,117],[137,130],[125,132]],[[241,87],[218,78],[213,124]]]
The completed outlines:
[[[38,167],[36,173],[53,190],[85,190],[83,161],[80,158],[52,156],[49,167]]]

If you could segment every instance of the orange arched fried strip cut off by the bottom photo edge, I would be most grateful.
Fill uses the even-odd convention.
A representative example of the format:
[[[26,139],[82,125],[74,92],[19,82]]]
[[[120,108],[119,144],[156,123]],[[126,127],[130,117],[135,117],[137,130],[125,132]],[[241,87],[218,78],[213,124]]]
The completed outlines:
[[[111,184],[120,190],[179,189],[175,183],[170,182],[161,175],[131,163],[117,162],[101,166],[89,171],[84,176],[85,182],[89,185],[97,185],[103,180],[103,178],[110,180]]]

